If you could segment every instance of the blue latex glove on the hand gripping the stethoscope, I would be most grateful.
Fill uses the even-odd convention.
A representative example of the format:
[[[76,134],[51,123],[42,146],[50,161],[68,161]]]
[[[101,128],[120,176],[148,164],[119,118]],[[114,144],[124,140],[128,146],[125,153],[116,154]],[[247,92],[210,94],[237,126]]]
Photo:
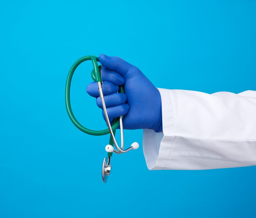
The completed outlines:
[[[103,65],[102,89],[110,122],[125,115],[124,129],[162,131],[162,102],[158,89],[137,67],[121,58],[101,54],[99,61]],[[117,93],[118,85],[124,85],[125,94]],[[97,105],[102,109],[97,82],[90,83],[86,91],[97,98]],[[105,119],[103,110],[102,114]]]

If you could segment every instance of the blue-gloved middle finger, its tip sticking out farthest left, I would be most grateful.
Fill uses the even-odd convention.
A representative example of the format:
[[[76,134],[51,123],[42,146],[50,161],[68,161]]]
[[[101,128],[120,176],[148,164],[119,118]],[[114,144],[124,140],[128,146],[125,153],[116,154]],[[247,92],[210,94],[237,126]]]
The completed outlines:
[[[102,90],[103,90],[103,94],[105,95],[109,95],[115,92],[118,92],[119,90],[119,86],[118,85],[114,85],[111,82],[103,82],[102,84]],[[92,97],[99,97],[99,87],[98,87],[98,83],[97,82],[91,82],[87,88],[86,88],[87,93],[92,96]]]

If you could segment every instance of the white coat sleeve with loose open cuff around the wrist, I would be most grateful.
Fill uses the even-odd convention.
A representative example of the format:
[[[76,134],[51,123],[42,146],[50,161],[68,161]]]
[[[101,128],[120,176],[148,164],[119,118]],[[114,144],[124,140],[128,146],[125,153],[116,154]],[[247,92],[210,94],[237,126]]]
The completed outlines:
[[[143,130],[148,169],[256,165],[256,91],[159,91],[163,133]]]

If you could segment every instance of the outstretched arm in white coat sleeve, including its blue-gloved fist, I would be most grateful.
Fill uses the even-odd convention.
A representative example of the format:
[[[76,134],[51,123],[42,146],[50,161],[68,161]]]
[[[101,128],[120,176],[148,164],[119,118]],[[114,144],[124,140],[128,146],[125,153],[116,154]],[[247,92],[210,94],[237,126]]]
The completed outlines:
[[[99,60],[110,119],[125,115],[124,129],[144,129],[149,169],[256,165],[256,91],[157,89],[121,58],[101,55]],[[118,85],[125,94],[117,93]],[[89,84],[87,92],[102,108],[97,84]]]

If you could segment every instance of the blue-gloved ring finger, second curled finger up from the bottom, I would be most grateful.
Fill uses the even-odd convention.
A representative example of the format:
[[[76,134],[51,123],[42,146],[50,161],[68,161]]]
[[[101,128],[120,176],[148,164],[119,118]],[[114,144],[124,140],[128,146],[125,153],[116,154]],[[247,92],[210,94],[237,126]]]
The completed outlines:
[[[112,93],[108,96],[104,96],[106,107],[113,107],[124,104],[127,101],[127,96],[124,93]],[[99,108],[103,109],[101,97],[96,99],[96,103]]]

